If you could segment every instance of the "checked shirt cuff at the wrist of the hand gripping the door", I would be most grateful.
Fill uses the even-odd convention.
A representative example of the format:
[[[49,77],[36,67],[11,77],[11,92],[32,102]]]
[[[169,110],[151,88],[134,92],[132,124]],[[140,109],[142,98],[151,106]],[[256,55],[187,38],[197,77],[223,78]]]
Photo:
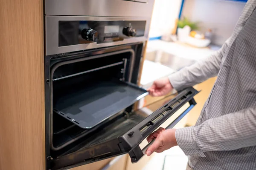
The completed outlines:
[[[175,138],[178,146],[185,153],[185,155],[193,155],[195,153],[200,153],[198,146],[195,141],[195,130],[196,127],[184,127],[177,129],[175,132]]]

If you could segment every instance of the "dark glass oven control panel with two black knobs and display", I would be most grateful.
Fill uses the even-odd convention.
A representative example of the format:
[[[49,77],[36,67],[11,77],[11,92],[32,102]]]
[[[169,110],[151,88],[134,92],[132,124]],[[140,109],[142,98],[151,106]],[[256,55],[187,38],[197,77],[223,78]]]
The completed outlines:
[[[143,37],[146,21],[59,21],[58,46],[110,43]]]

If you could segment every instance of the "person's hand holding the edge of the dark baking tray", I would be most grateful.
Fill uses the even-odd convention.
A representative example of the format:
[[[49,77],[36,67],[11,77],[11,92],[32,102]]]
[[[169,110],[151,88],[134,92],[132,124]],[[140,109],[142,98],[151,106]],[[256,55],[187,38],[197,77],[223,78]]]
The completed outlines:
[[[151,96],[162,96],[167,95],[173,89],[169,78],[162,78],[154,81],[153,85],[149,87],[148,92]]]

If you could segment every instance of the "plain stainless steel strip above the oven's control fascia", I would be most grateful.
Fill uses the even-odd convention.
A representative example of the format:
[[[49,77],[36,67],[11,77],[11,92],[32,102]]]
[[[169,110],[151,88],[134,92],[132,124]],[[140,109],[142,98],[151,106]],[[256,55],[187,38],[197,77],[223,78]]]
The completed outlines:
[[[46,15],[151,17],[154,0],[44,0]],[[142,1],[142,0],[140,0]]]

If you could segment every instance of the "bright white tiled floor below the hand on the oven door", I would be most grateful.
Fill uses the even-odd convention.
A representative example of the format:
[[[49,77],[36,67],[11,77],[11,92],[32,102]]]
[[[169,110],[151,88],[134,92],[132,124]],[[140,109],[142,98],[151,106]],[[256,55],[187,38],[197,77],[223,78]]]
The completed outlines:
[[[187,161],[187,156],[176,146],[155,154],[143,170],[186,170]]]

